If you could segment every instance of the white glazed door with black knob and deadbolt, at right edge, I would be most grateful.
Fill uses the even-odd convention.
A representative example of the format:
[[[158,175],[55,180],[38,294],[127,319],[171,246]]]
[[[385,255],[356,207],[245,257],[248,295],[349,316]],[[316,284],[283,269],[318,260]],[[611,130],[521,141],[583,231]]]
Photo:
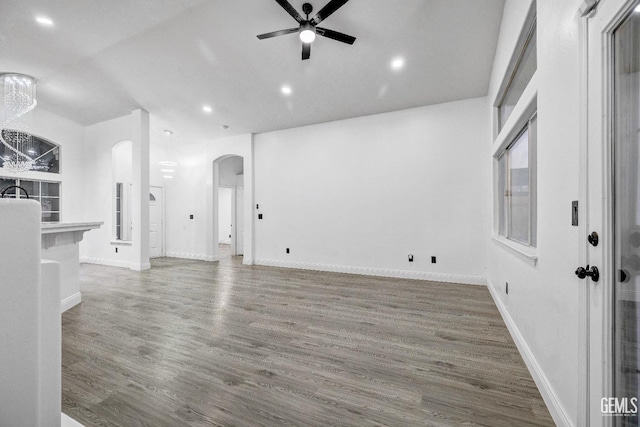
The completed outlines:
[[[603,0],[586,21],[588,132],[582,182],[587,226],[581,244],[589,267],[581,266],[584,270],[576,274],[581,273],[585,286],[585,425],[591,426],[640,423],[637,4],[638,0]]]

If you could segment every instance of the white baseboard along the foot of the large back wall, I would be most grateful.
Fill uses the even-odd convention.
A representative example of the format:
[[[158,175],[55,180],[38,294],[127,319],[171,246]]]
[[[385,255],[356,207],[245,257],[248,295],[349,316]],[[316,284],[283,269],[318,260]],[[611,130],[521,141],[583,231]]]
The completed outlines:
[[[270,267],[296,268],[300,270],[329,271],[332,273],[361,274],[365,276],[394,277],[398,279],[430,280],[434,282],[463,283],[467,285],[486,285],[484,277],[461,274],[432,273],[428,271],[388,270],[383,268],[353,267],[349,265],[314,264],[269,259],[255,259],[255,265]]]

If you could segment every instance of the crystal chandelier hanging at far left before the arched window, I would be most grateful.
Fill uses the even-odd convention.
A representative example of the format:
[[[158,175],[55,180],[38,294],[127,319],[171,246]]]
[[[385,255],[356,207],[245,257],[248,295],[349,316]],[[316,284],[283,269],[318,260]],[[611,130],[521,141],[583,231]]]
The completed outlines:
[[[5,146],[3,168],[25,172],[34,164],[31,127],[36,100],[36,80],[24,74],[0,74],[4,86],[4,116],[0,126],[0,142]]]

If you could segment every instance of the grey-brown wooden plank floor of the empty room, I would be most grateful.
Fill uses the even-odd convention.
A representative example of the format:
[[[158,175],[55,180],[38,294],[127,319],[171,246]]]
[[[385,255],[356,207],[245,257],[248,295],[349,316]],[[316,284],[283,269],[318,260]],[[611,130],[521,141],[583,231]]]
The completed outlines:
[[[484,287],[152,265],[81,267],[62,410],[86,426],[553,425]]]

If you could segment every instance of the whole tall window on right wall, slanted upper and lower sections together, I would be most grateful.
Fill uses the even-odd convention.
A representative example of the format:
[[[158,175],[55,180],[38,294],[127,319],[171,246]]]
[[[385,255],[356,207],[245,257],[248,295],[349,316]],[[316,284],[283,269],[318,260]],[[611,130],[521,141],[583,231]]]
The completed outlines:
[[[537,259],[536,2],[531,5],[494,102],[494,206],[498,241]]]

